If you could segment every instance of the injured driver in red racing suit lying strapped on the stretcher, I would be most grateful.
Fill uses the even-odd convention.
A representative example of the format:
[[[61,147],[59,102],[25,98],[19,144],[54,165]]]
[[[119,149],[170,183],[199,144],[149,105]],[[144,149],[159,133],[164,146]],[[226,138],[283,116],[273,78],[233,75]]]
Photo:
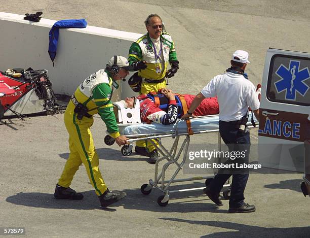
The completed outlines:
[[[142,122],[156,122],[164,125],[175,123],[187,113],[195,95],[173,93],[171,89],[163,88],[157,93],[140,95],[140,115]],[[127,97],[122,100],[124,107],[133,108],[136,98]],[[196,116],[214,115],[219,113],[217,97],[205,98],[193,114]]]

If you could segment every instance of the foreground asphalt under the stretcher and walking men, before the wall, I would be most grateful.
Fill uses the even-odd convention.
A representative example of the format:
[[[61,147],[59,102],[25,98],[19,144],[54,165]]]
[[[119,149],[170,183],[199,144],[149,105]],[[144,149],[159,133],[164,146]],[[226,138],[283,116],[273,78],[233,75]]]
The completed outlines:
[[[229,214],[228,200],[216,207],[202,191],[171,194],[167,207],[160,207],[160,190],[153,188],[149,195],[140,192],[140,186],[153,179],[154,165],[135,153],[122,156],[117,145],[104,145],[105,128],[99,117],[92,133],[101,173],[110,189],[123,190],[127,197],[100,209],[81,166],[71,187],[84,199],[56,200],[55,184],[68,158],[63,114],[5,121],[0,126],[4,135],[1,227],[25,227],[27,237],[308,237],[310,232],[309,199],[300,192],[300,174],[251,174],[245,197],[256,206],[255,213]],[[251,132],[255,143],[256,131]],[[193,136],[191,143],[210,143],[215,138],[216,133]],[[171,143],[164,141],[167,148]],[[172,166],[167,176],[175,169]],[[179,178],[188,176],[197,175],[179,173]],[[175,184],[172,189],[203,186],[204,180]]]

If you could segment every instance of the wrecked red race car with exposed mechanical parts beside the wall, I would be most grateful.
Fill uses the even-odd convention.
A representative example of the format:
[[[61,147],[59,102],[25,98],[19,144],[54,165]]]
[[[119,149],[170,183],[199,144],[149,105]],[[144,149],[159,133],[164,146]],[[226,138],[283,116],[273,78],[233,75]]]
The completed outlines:
[[[0,71],[0,119],[39,113],[56,113],[52,83],[47,70]]]

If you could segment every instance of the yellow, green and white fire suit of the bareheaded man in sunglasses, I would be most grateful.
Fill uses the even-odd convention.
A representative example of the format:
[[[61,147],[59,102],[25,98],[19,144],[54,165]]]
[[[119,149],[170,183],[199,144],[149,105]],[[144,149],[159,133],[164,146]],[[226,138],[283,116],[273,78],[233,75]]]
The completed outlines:
[[[160,41],[164,62],[161,58],[156,58],[156,53],[159,52],[154,52],[154,47],[148,33],[133,42],[129,49],[129,64],[135,61],[145,60],[147,65],[145,70],[139,70],[138,72],[138,75],[143,78],[140,94],[158,92],[161,88],[166,88],[166,80],[164,80],[164,78],[168,63],[177,60],[176,50],[171,36],[167,32],[163,32],[160,36]],[[159,83],[146,83],[144,79],[158,80]],[[136,142],[136,145],[139,147],[147,147],[149,152],[155,149],[150,142],[146,142],[145,144],[145,141],[139,141]]]

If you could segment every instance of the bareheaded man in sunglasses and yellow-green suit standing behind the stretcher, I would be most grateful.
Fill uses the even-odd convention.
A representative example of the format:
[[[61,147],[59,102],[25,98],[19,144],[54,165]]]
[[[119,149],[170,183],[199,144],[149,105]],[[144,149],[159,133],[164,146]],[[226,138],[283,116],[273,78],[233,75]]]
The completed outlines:
[[[171,78],[179,69],[174,43],[165,32],[161,17],[149,15],[144,21],[147,33],[133,42],[129,49],[129,63],[134,66],[135,73],[129,80],[130,87],[140,94],[158,92],[166,88],[166,78]],[[168,63],[171,69],[167,70]],[[156,141],[153,140],[156,143]],[[146,149],[147,148],[147,149]],[[149,156],[148,162],[158,159],[157,150],[147,141],[136,143],[138,154]]]

